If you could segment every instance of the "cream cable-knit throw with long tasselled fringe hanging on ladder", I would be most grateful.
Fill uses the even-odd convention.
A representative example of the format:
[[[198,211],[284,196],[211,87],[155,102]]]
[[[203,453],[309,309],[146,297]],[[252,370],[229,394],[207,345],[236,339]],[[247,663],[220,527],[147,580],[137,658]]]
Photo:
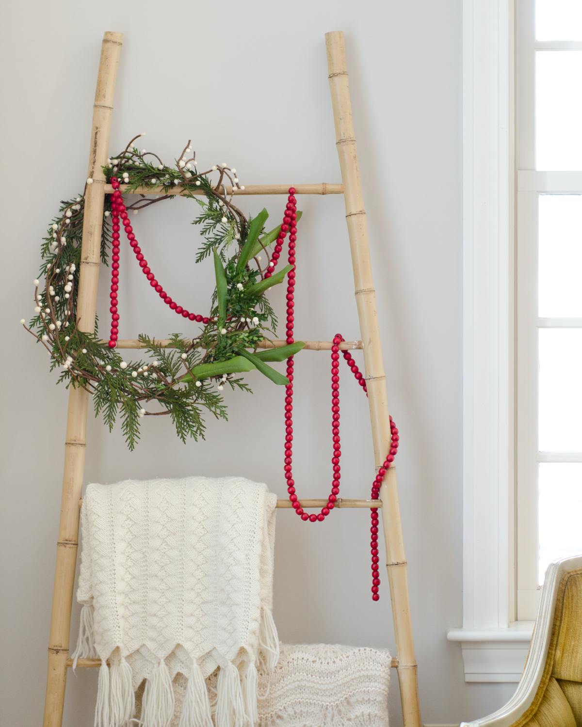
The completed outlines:
[[[178,672],[180,727],[212,727],[204,678],[218,667],[216,726],[257,722],[257,667],[279,658],[275,507],[266,485],[241,477],[87,487],[73,659],[102,660],[96,727],[129,723],[144,678],[140,721],[167,727]]]

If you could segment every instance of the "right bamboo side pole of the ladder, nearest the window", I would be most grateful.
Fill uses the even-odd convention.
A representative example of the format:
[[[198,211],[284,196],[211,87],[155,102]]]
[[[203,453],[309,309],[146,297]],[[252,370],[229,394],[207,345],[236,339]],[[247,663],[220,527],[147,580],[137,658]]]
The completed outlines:
[[[354,125],[351,119],[351,103],[346,67],[346,51],[343,33],[326,33],[327,68],[329,71],[332,96],[335,139],[340,158],[341,179],[346,201],[346,222],[351,247],[351,260],[354,266],[354,284],[359,325],[364,345],[364,364],[372,438],[376,469],[384,461],[391,444],[390,419],[386,398],[386,377],[382,360],[380,330],[372,264],[366,225],[366,212],[362,198],[362,183],[359,176]],[[418,703],[417,666],[412,640],[412,620],[410,618],[410,599],[402,523],[398,491],[396,489],[396,468],[390,467],[380,487],[382,500],[382,523],[386,540],[386,567],[392,601],[392,618],[396,650],[400,696],[404,727],[420,727],[420,707]]]

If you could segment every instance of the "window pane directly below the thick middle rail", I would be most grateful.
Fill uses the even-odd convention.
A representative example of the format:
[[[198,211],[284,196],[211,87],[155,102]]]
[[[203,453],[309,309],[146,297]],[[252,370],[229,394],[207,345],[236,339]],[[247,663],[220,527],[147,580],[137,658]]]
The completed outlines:
[[[582,195],[540,196],[538,310],[542,318],[582,318]]]

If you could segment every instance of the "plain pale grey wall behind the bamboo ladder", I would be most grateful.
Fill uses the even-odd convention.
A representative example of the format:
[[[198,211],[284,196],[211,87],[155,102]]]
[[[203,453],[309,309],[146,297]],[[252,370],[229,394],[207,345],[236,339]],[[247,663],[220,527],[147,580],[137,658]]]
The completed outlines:
[[[151,0],[4,4],[1,74],[4,297],[4,505],[0,723],[39,724],[63,467],[67,393],[20,328],[33,302],[39,242],[61,198],[82,190],[103,31],[124,33],[111,153],[146,130],[171,161],[188,138],[203,164],[228,161],[242,183],[338,182],[324,33],[343,30],[368,212],[391,413],[399,426],[400,502],[423,721],[454,723],[501,706],[514,685],[466,684],[461,650],[461,0],[222,3]],[[265,204],[278,220],[283,198]],[[298,337],[359,337],[343,198],[300,198]],[[190,310],[206,310],[210,264],[194,266],[191,201],[135,220],[156,276]],[[151,294],[127,250],[121,337],[194,331]],[[105,271],[103,271],[105,273]],[[106,274],[106,273],[105,273]],[[284,292],[272,296],[282,310]],[[106,289],[100,313],[106,316]],[[361,353],[356,358],[361,359]],[[296,481],[330,485],[330,360],[297,359]],[[146,419],[135,452],[89,419],[86,481],[239,473],[281,497],[282,390],[249,377],[228,394],[230,422],[184,446]],[[343,496],[367,497],[373,459],[367,406],[343,377]],[[394,650],[386,578],[370,599],[367,511],[305,525],[277,515],[275,617],[287,641]],[[76,638],[78,609],[73,613]],[[95,670],[69,675],[65,725],[92,725]],[[396,675],[391,719],[402,723]]]

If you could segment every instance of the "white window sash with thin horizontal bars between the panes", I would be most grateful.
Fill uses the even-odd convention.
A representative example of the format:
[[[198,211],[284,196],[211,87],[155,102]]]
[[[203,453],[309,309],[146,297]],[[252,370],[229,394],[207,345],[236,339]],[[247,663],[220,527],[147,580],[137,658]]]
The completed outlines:
[[[580,327],[538,318],[538,198],[582,193],[582,172],[535,171],[535,54],[582,50],[582,42],[535,41],[535,0],[519,0],[517,134],[517,618],[535,619],[538,586],[538,462],[582,462],[580,452],[538,452],[538,330]]]

